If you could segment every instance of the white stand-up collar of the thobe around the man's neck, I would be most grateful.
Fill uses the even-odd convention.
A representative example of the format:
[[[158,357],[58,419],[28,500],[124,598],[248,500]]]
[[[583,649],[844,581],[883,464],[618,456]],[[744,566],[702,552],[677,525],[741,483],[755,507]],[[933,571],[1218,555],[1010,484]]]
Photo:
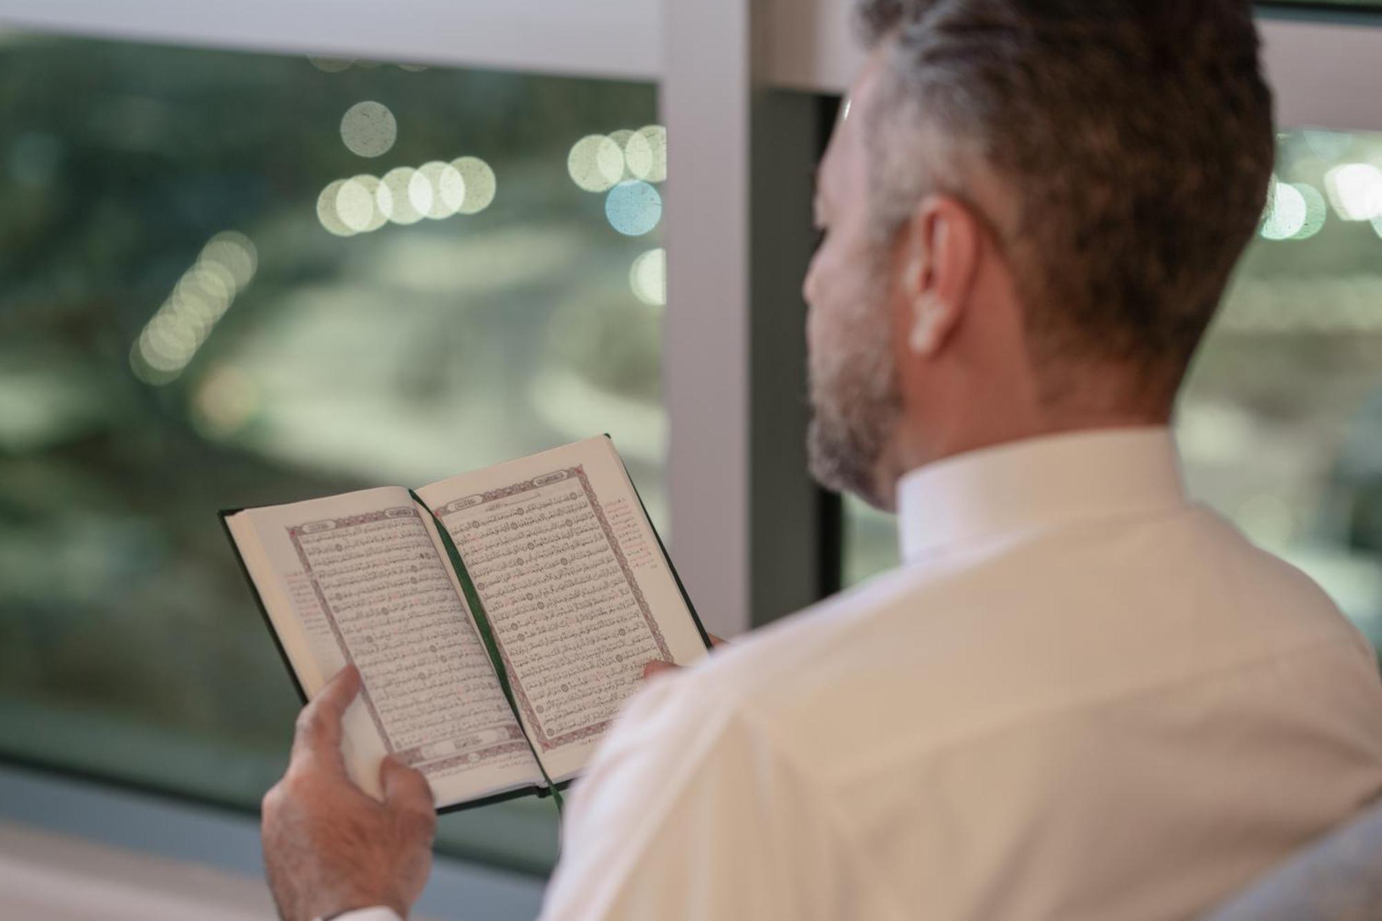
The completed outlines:
[[[902,559],[1077,519],[1186,503],[1164,426],[1025,438],[958,454],[897,484]]]

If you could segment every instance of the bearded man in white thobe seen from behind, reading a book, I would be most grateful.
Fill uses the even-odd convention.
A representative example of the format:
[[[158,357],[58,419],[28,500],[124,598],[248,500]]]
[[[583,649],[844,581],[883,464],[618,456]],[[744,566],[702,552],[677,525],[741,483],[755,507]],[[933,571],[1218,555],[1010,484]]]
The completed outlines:
[[[1244,0],[865,0],[821,166],[814,467],[904,567],[650,680],[545,918],[1182,918],[1382,790],[1372,650],[1184,495],[1176,389],[1262,212]],[[289,918],[405,913],[426,783],[265,798]],[[344,917],[391,918],[390,909]]]

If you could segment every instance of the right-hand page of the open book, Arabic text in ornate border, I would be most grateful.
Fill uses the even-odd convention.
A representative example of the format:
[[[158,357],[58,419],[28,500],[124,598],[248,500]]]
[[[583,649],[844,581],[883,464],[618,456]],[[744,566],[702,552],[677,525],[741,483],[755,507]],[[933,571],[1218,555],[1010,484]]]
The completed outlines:
[[[590,438],[417,495],[489,617],[529,738],[574,776],[654,660],[706,653],[623,463]]]

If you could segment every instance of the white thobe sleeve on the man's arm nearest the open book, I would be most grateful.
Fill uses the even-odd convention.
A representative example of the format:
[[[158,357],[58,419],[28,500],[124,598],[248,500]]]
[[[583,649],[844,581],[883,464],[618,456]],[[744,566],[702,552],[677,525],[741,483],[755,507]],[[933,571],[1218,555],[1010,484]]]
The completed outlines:
[[[802,772],[695,673],[655,679],[569,801],[543,921],[815,918],[836,835]]]

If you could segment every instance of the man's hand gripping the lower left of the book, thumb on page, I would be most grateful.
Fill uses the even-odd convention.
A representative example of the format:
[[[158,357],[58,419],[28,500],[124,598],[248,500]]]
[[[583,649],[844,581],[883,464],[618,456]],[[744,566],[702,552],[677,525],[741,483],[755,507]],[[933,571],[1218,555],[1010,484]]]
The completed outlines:
[[[406,917],[431,871],[427,779],[386,758],[376,802],[346,774],[341,715],[358,691],[359,672],[347,665],[303,708],[287,773],[264,795],[264,866],[285,921],[368,906]]]

